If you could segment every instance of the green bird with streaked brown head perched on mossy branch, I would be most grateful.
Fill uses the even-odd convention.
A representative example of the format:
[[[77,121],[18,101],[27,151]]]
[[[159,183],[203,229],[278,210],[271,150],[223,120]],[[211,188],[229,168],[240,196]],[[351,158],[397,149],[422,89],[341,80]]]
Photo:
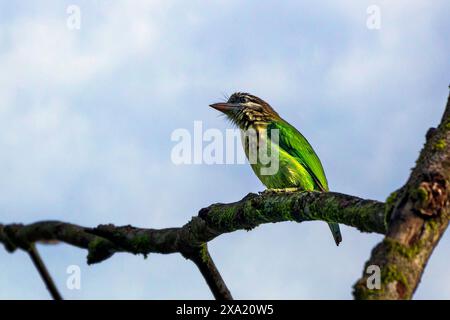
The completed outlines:
[[[237,92],[231,95],[227,102],[210,106],[224,113],[234,125],[241,129],[241,132],[255,132],[256,148],[266,145],[267,150],[276,151],[278,168],[275,173],[263,174],[262,168],[267,165],[259,158],[257,161],[250,162],[253,171],[267,188],[328,191],[328,182],[322,163],[308,140],[282,119],[267,102],[254,95]],[[245,153],[249,158],[251,139],[248,138],[249,135],[242,135],[242,137]],[[339,245],[342,241],[339,225],[331,222],[328,225],[336,245]]]

